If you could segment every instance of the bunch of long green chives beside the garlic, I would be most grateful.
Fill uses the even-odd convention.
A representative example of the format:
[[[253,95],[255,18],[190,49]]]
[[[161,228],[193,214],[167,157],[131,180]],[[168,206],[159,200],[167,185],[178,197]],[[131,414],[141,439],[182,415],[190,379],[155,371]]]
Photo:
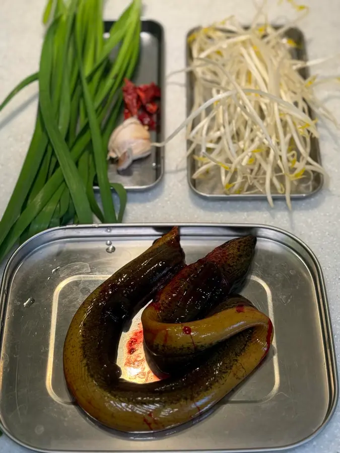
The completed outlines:
[[[0,258],[20,240],[70,221],[122,221],[126,191],[109,183],[107,141],[121,108],[121,86],[138,61],[141,0],[133,0],[103,39],[103,0],[48,0],[39,73],[22,81],[0,111],[39,81],[35,131],[0,221]],[[115,60],[112,50],[120,44]],[[77,168],[78,166],[78,168]],[[98,181],[104,214],[93,191]],[[118,195],[116,216],[111,190]]]

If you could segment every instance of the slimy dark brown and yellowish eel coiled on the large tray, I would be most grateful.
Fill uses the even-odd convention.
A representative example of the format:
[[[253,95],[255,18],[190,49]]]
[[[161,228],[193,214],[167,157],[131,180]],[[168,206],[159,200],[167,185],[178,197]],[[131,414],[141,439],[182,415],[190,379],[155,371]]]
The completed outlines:
[[[172,428],[210,409],[260,363],[273,339],[270,320],[241,296],[225,299],[248,271],[255,245],[249,238],[238,240],[228,260],[228,247],[223,245],[188,270],[175,229],[85,299],[67,332],[63,365],[67,386],[88,415],[125,432]],[[253,245],[243,270],[238,264],[242,241]],[[190,278],[194,272],[195,278]],[[201,272],[207,272],[205,280]],[[195,284],[209,283],[210,275],[216,286],[202,285],[197,293]],[[177,296],[169,300],[172,308],[161,317],[157,304],[166,299],[169,284],[178,288]],[[188,284],[191,289],[185,291]],[[170,356],[188,356],[198,348],[207,352],[205,360],[163,381],[135,384],[119,379],[115,361],[123,322],[137,304],[157,292],[154,303],[143,313],[148,347]],[[182,308],[176,307],[178,298]],[[195,321],[190,321],[192,318]],[[177,322],[171,321],[174,319]]]

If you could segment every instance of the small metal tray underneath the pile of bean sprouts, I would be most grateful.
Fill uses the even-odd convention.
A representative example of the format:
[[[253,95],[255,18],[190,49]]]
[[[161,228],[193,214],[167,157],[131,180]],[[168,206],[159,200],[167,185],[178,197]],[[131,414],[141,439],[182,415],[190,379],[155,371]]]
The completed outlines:
[[[279,27],[276,27],[279,28]],[[197,27],[190,30],[187,34],[187,37],[191,35],[194,31],[197,30]],[[302,60],[302,61],[307,61],[307,51],[306,51],[306,42],[303,33],[301,30],[298,28],[290,28],[287,30],[285,33],[285,36],[287,38],[293,39],[294,42],[297,44],[296,47],[292,48],[291,53],[293,58],[297,60]],[[186,40],[186,61],[187,64],[189,64],[191,60],[191,52],[190,52],[190,47],[188,45],[188,40]],[[300,73],[304,79],[308,79],[310,77],[309,73],[309,68],[302,68],[300,70]],[[193,82],[194,82],[194,75],[192,72],[187,72],[186,73],[186,108],[187,108],[187,115],[191,113],[191,109],[193,106]],[[309,110],[309,115],[312,119],[315,119],[315,115],[313,111],[310,109]],[[195,125],[195,122],[193,123]],[[189,143],[187,144],[187,147],[189,147]],[[188,157],[187,159],[187,179],[188,179],[188,184],[191,187],[191,189],[196,192],[198,195],[205,197],[205,198],[211,198],[211,199],[217,199],[217,200],[242,200],[242,199],[266,199],[266,195],[262,193],[253,193],[253,194],[247,194],[247,195],[242,195],[242,194],[226,194],[223,191],[223,188],[220,182],[220,174],[218,169],[212,169],[210,173],[210,177],[206,179],[192,179],[192,175],[195,173],[195,171],[198,169],[198,163],[195,159],[193,159],[193,155],[198,156],[200,153],[200,148],[199,146],[196,147],[194,150],[193,154]],[[316,137],[311,137],[311,152],[310,152],[311,158],[317,162],[318,164],[321,165],[321,157],[320,157],[320,148],[319,148],[319,141]],[[323,176],[320,173],[314,172],[313,179],[311,181],[311,188],[308,190],[305,185],[301,184],[301,181],[303,180],[298,180],[298,182],[294,185],[292,185],[292,191],[291,191],[291,198],[304,198],[308,197],[311,195],[316,194],[319,190],[322,189],[323,186]],[[278,193],[276,187],[273,185],[271,187],[271,195],[273,196],[273,199],[284,199],[285,195]]]

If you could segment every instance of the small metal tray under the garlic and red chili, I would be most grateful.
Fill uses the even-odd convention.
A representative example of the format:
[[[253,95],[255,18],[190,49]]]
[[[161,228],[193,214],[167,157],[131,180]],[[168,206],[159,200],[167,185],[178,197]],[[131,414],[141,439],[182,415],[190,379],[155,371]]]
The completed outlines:
[[[113,22],[105,22],[105,32],[109,32]],[[161,24],[155,21],[142,21],[141,50],[137,70],[132,81],[137,85],[154,82],[161,89],[160,123],[157,131],[150,132],[151,141],[164,139],[164,31]],[[121,122],[123,118],[121,118]],[[117,173],[116,165],[109,162],[108,175],[110,182],[121,183],[128,191],[147,190],[160,182],[164,174],[164,147],[152,147],[151,155],[134,161],[126,170]],[[95,187],[99,193],[99,187]]]

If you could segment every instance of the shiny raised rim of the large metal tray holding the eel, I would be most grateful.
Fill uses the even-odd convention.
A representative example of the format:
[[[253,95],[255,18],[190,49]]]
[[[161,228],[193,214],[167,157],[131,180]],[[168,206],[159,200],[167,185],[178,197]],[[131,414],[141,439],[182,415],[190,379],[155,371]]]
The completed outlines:
[[[59,231],[59,230],[85,230],[86,228],[93,228],[95,227],[96,230],[98,229],[99,230],[99,226],[101,228],[104,228],[104,232],[105,232],[105,229],[107,228],[111,228],[111,229],[119,229],[119,228],[144,228],[144,227],[147,227],[147,228],[167,228],[167,227],[171,227],[171,226],[175,226],[175,225],[178,225],[179,227],[183,226],[183,227],[198,227],[198,226],[201,226],[201,227],[218,227],[218,228],[235,228],[235,229],[239,229],[239,228],[249,228],[249,229],[263,229],[263,230],[267,230],[267,231],[275,231],[275,232],[278,232],[282,235],[285,235],[285,236],[288,236],[290,239],[292,239],[293,241],[295,241],[296,243],[298,243],[300,245],[300,247],[302,247],[306,253],[310,256],[310,258],[312,259],[313,261],[313,264],[315,265],[315,268],[316,268],[316,271],[317,271],[317,277],[318,277],[318,280],[319,280],[319,283],[320,283],[320,291],[321,291],[321,294],[322,294],[322,300],[321,300],[321,305],[322,305],[322,308],[324,310],[324,316],[325,316],[325,320],[322,322],[323,324],[323,327],[324,327],[324,331],[326,333],[326,340],[328,342],[328,345],[329,345],[329,358],[330,358],[330,363],[329,363],[329,368],[331,369],[331,374],[332,374],[332,385],[333,385],[333,398],[329,404],[329,408],[328,408],[328,412],[322,422],[322,424],[318,427],[318,429],[316,431],[314,431],[312,434],[310,434],[309,436],[305,437],[304,439],[301,439],[300,441],[298,442],[295,442],[295,443],[292,443],[292,444],[288,444],[288,445],[284,445],[284,446],[281,446],[281,447],[276,447],[276,448],[251,448],[251,449],[227,449],[227,450],[216,450],[217,452],[219,453],[260,453],[260,452],[269,452],[269,451],[286,451],[286,450],[289,450],[291,448],[295,448],[295,447],[298,447],[298,446],[301,446],[307,442],[309,442],[310,440],[312,440],[315,436],[317,436],[324,428],[325,426],[328,424],[328,422],[330,421],[331,417],[333,416],[334,412],[335,412],[335,409],[336,409],[336,406],[337,406],[337,402],[338,402],[338,386],[339,386],[339,382],[338,382],[338,373],[337,373],[337,364],[336,364],[336,355],[335,355],[335,347],[334,347],[334,341],[333,341],[333,333],[332,333],[332,326],[331,326],[331,319],[330,319],[330,312],[329,312],[329,305],[328,305],[328,298],[327,298],[327,294],[326,294],[326,287],[325,287],[325,281],[324,281],[324,277],[323,277],[323,272],[322,272],[322,269],[321,269],[321,265],[316,257],[316,255],[314,254],[314,252],[301,240],[299,239],[297,236],[295,236],[294,234],[286,231],[286,230],[283,230],[281,228],[278,228],[276,226],[271,226],[271,225],[265,225],[265,224],[261,224],[261,223],[209,223],[209,222],[202,222],[202,223],[194,223],[194,222],[180,222],[180,223],[176,223],[176,222],[155,222],[155,223],[113,223],[113,224],[110,224],[110,223],[102,223],[102,224],[98,224],[98,223],[93,223],[93,224],[88,224],[88,225],[66,225],[66,226],[59,226],[59,227],[55,227],[55,228],[51,228],[51,229],[48,229],[48,230],[45,230],[41,233],[38,233],[37,235],[33,236],[32,238],[28,239],[24,244],[22,244],[18,249],[16,249],[12,255],[10,256],[10,258],[8,259],[7,263],[6,263],[6,267],[5,267],[5,270],[4,270],[4,274],[3,274],[3,277],[2,277],[2,281],[1,281],[1,286],[0,286],[0,349],[1,349],[1,346],[2,346],[2,342],[3,342],[3,327],[1,327],[3,324],[5,323],[2,323],[3,319],[4,319],[4,303],[3,303],[3,300],[4,300],[4,291],[5,291],[5,283],[7,281],[7,278],[8,278],[8,274],[9,274],[9,271],[10,271],[10,266],[12,264],[12,262],[14,261],[15,257],[19,254],[19,252],[24,249],[28,243],[34,241],[36,238],[40,237],[40,236],[43,236],[45,235],[46,233],[48,232],[53,232],[53,231]],[[99,230],[100,231],[100,230]],[[112,231],[111,231],[112,233]],[[1,414],[0,414],[0,429],[11,439],[13,440],[14,442],[16,442],[17,444],[21,445],[21,446],[24,446],[32,451],[38,451],[39,453],[51,453],[52,451],[53,452],[60,452],[60,453],[80,453],[80,451],[76,451],[76,450],[54,450],[54,449],[40,449],[40,448],[35,448],[31,445],[28,445],[28,444],[25,444],[24,442],[21,442],[20,440],[16,439],[2,424],[1,422]],[[104,451],[104,450],[96,450],[97,453],[107,453],[107,451]],[[155,453],[153,450],[144,450],[145,453]],[[180,453],[181,450],[164,450],[164,453]],[[192,450],[193,452],[195,450]],[[196,450],[197,453],[211,453],[211,450]],[[89,450],[86,450],[86,453],[89,453]],[[131,453],[134,453],[134,452],[131,452]],[[135,452],[135,453],[140,453],[140,452]]]

